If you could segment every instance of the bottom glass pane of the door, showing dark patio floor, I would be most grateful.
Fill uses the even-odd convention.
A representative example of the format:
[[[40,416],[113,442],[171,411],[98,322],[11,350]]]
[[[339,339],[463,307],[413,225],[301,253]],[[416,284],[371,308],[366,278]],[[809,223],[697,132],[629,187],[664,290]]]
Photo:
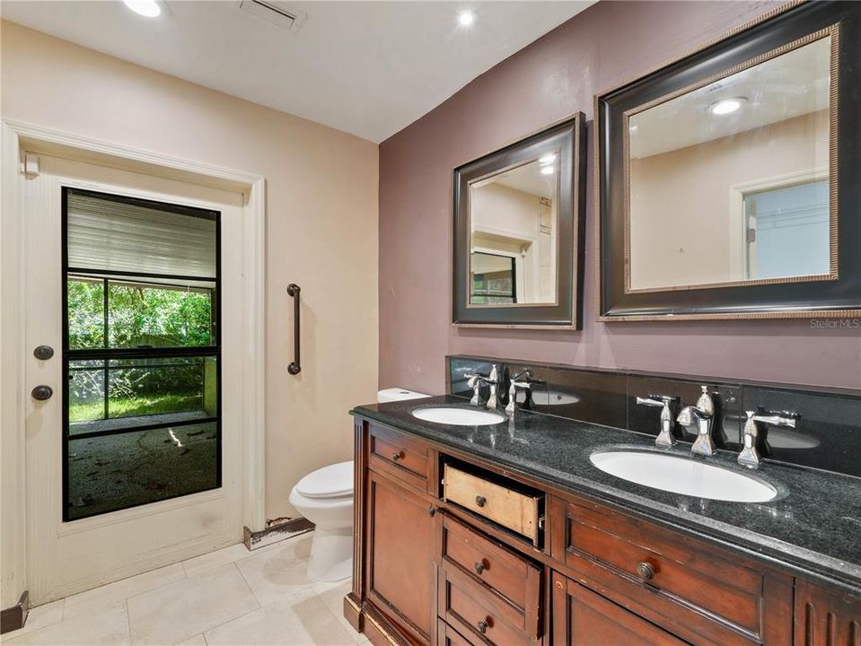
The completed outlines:
[[[69,520],[219,486],[217,423],[198,423],[68,445]]]

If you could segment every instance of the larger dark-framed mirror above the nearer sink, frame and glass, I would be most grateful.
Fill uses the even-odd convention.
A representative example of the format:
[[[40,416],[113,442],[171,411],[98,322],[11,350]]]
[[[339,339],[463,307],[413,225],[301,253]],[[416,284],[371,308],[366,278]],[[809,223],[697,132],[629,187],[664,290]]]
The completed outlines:
[[[596,97],[599,319],[858,315],[859,37],[789,4]]]

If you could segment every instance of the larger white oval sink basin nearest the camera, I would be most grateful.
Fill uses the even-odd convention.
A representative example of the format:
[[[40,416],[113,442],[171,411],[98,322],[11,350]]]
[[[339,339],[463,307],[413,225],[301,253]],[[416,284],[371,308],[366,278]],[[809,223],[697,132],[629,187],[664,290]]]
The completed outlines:
[[[729,502],[768,502],[778,496],[777,489],[759,478],[694,458],[650,451],[604,450],[593,453],[589,459],[611,476],[672,493]]]

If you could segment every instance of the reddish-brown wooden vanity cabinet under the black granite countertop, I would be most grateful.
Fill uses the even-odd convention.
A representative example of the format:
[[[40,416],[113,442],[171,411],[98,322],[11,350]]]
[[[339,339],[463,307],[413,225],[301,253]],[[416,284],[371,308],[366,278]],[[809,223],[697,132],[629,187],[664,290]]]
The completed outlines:
[[[345,615],[375,646],[861,646],[857,597],[451,453],[356,421]]]

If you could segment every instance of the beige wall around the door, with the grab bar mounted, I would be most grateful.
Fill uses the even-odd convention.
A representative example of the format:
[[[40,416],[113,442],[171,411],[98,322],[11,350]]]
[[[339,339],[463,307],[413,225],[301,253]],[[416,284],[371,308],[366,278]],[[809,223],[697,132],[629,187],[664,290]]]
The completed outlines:
[[[291,487],[352,457],[347,411],[376,396],[377,145],[10,22],[0,37],[3,118],[266,177],[266,514],[292,514]]]

